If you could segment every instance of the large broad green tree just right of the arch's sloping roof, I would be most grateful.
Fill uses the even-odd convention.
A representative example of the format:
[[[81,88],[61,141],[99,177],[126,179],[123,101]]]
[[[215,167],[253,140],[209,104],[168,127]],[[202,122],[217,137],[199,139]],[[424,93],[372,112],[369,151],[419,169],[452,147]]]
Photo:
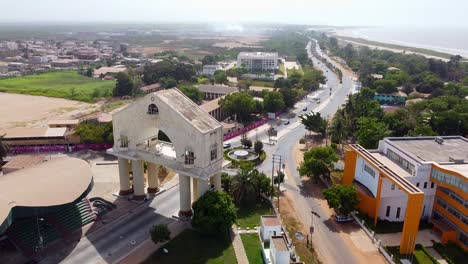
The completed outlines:
[[[247,92],[232,93],[219,100],[219,105],[226,113],[236,115],[239,122],[249,120],[250,114],[255,111],[255,100]]]

